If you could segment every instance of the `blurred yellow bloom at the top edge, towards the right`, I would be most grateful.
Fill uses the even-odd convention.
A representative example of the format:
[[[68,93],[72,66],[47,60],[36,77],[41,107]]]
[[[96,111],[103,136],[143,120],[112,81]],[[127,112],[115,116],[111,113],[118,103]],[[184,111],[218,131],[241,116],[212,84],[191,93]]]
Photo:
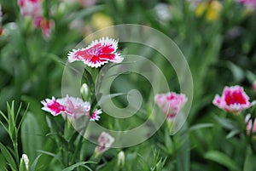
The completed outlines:
[[[202,2],[195,9],[195,15],[201,17],[205,14],[207,20],[218,20],[222,4],[218,1]]]

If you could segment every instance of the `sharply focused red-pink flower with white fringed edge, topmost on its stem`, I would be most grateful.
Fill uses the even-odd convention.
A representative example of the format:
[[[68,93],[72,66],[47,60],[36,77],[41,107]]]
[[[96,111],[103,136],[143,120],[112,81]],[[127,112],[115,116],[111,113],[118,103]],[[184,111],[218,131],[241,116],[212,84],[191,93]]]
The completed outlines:
[[[95,40],[87,48],[73,49],[68,53],[68,61],[83,61],[90,67],[100,67],[108,61],[119,63],[123,60],[120,54],[116,53],[118,42],[112,38],[102,37]]]

